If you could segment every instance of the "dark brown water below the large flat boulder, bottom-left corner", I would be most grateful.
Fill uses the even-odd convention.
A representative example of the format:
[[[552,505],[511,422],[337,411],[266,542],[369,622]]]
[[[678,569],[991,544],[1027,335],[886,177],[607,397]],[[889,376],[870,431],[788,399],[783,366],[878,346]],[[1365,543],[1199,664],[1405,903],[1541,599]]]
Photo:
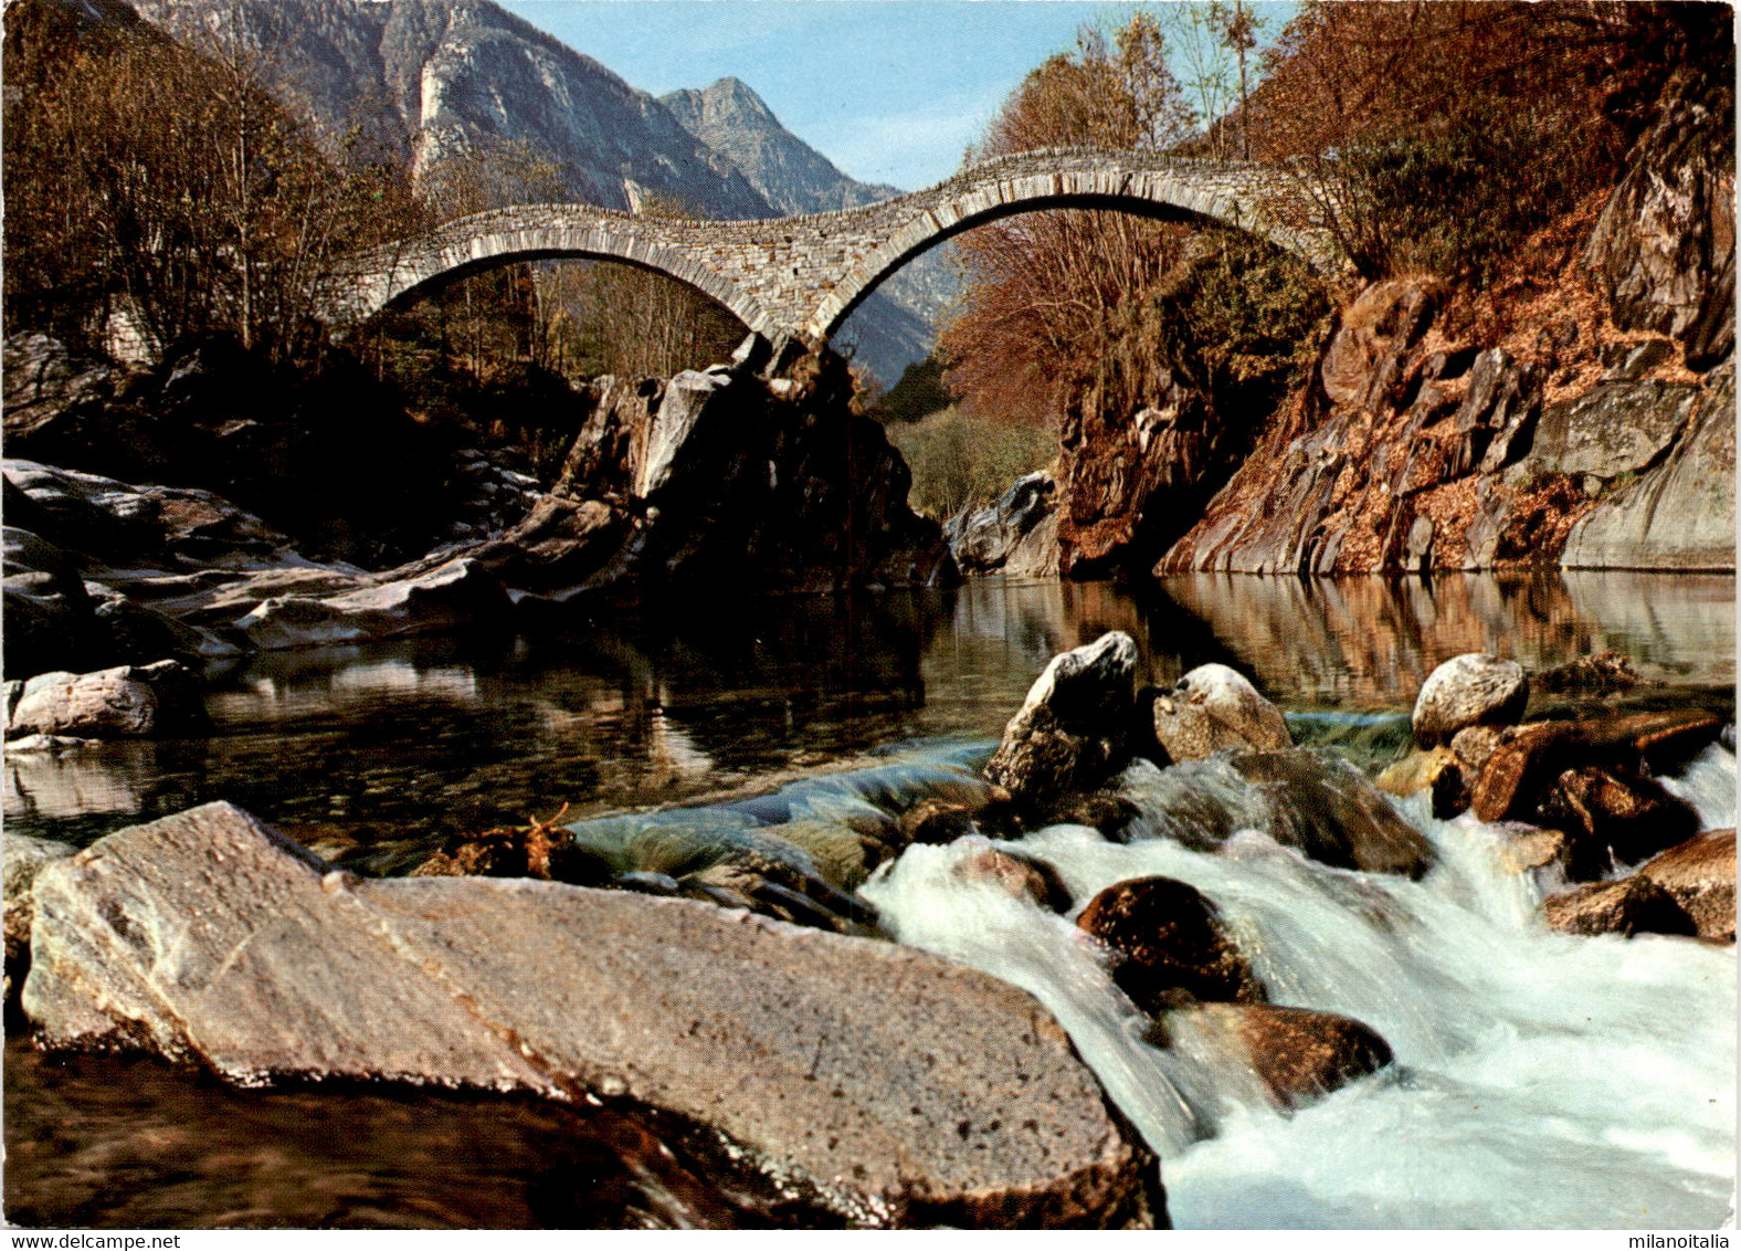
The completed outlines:
[[[155,1059],[49,1058],[16,1040],[5,1112],[5,1214],[24,1227],[719,1228],[778,1216],[766,1187],[639,1112],[407,1087],[235,1091]]]

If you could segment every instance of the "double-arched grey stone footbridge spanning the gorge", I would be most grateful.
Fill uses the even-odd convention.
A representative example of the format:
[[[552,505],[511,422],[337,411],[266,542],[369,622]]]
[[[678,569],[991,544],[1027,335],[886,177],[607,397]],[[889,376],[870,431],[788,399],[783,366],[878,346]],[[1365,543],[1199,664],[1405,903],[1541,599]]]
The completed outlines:
[[[1342,265],[1311,197],[1283,167],[1050,148],[971,166],[924,192],[796,218],[695,221],[585,204],[491,209],[346,258],[329,274],[326,314],[334,326],[355,326],[465,272],[569,256],[669,274],[717,300],[752,331],[822,343],[912,256],[985,221],[1048,207],[1219,221],[1316,268]]]

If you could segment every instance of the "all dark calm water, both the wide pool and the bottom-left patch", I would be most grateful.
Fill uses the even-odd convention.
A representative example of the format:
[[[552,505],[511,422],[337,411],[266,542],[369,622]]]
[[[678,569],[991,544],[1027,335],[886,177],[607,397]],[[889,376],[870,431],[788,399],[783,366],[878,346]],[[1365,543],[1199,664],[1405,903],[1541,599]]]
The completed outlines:
[[[1208,660],[1304,725],[1388,725],[1461,652],[1617,650],[1635,699],[1732,709],[1734,578],[985,578],[954,592],[677,605],[503,639],[258,657],[209,739],[5,760],[10,829],[89,843],[230,800],[366,873],[454,831],[773,789],[914,740],[992,739],[1045,662],[1130,632],[1142,680]],[[1375,716],[1379,714],[1379,716]],[[1297,721],[1297,727],[1301,721]],[[418,1092],[239,1092],[155,1061],[7,1047],[7,1218],[26,1225],[740,1225],[770,1213],[604,1110]]]

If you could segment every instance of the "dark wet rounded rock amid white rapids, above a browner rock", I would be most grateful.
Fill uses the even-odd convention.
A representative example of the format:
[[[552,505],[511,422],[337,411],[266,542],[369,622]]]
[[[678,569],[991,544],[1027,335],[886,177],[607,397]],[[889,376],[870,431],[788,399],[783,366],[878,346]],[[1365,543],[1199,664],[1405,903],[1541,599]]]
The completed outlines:
[[[1119,882],[1090,899],[1076,925],[1118,953],[1112,981],[1144,1012],[1267,998],[1215,904],[1186,882]]]

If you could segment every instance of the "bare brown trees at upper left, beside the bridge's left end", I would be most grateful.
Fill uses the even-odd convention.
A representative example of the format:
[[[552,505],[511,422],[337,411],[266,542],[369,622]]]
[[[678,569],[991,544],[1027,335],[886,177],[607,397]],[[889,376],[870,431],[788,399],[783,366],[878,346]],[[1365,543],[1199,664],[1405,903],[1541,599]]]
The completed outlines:
[[[185,47],[19,9],[7,70],[33,89],[5,118],[9,328],[89,336],[124,312],[158,348],[216,331],[273,361],[319,350],[322,270],[402,228],[402,176],[343,141],[322,152],[235,24]],[[35,38],[14,44],[14,19]]]

